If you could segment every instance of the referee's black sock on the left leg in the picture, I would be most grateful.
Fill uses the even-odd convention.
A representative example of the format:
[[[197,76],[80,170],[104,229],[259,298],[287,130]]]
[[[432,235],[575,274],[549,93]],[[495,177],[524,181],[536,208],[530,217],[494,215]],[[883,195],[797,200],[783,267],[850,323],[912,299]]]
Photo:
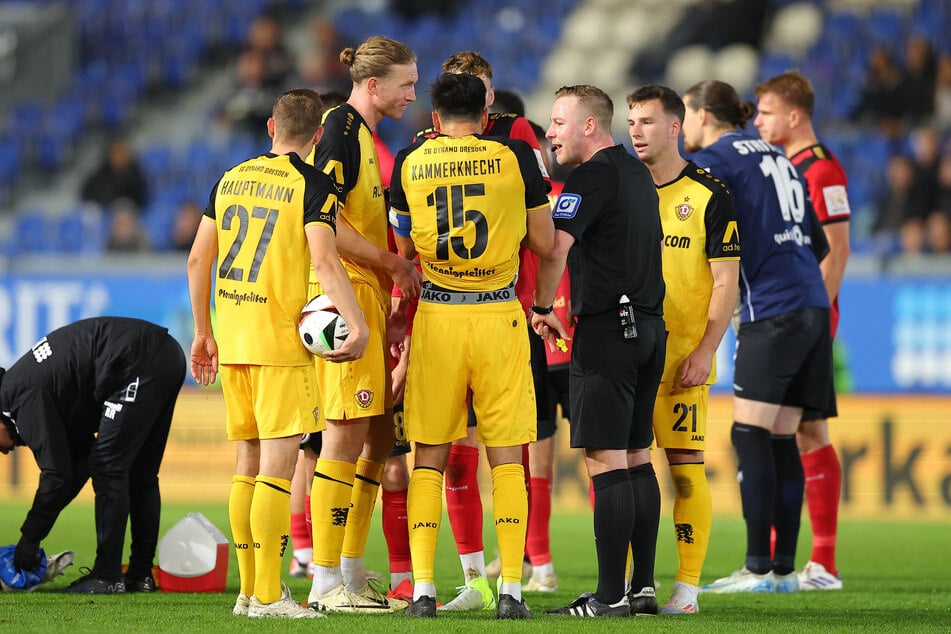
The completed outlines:
[[[598,553],[595,598],[606,605],[624,596],[627,547],[634,530],[634,492],[627,469],[591,478],[594,484],[594,539]]]

